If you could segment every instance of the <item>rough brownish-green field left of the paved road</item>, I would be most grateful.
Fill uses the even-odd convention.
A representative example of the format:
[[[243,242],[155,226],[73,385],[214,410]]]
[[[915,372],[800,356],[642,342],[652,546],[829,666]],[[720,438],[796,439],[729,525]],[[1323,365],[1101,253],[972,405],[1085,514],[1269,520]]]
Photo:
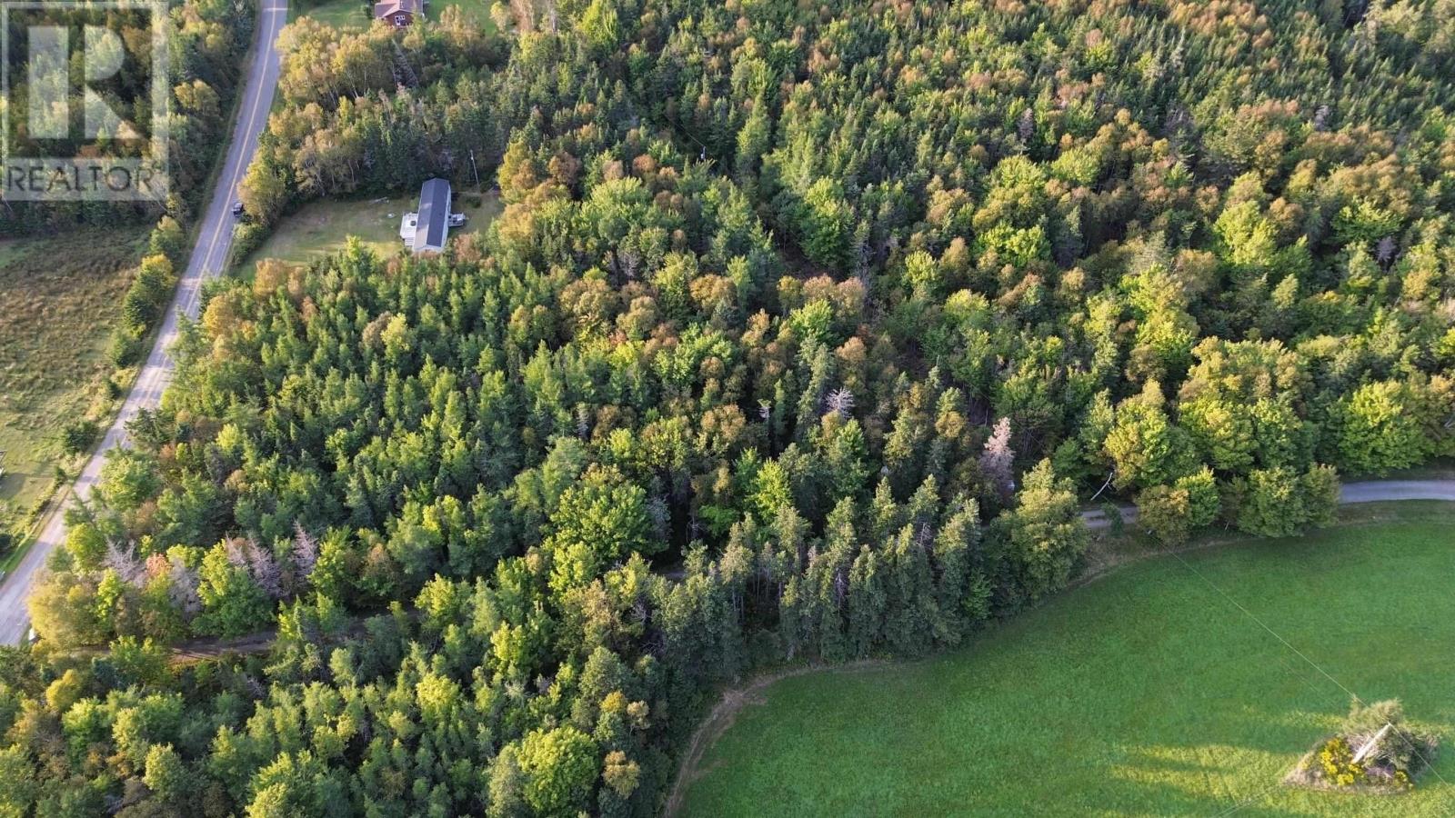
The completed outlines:
[[[0,502],[26,511],[61,461],[57,432],[105,415],[106,360],[147,230],[0,242]]]

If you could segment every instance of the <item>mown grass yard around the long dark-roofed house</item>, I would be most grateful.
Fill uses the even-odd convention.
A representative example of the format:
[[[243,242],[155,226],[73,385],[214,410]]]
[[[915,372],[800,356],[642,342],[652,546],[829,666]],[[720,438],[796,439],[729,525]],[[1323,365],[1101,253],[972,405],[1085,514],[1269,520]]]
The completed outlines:
[[[470,220],[464,227],[454,229],[450,236],[483,230],[501,213],[498,194],[482,196],[480,207],[470,207],[469,192],[455,198],[454,207]],[[250,269],[260,259],[282,259],[307,263],[316,258],[342,250],[349,236],[358,236],[364,245],[381,256],[393,256],[403,250],[399,240],[399,221],[404,213],[415,210],[419,195],[390,196],[355,201],[310,202],[298,213],[284,218],[272,236],[249,256],[243,269]]]

